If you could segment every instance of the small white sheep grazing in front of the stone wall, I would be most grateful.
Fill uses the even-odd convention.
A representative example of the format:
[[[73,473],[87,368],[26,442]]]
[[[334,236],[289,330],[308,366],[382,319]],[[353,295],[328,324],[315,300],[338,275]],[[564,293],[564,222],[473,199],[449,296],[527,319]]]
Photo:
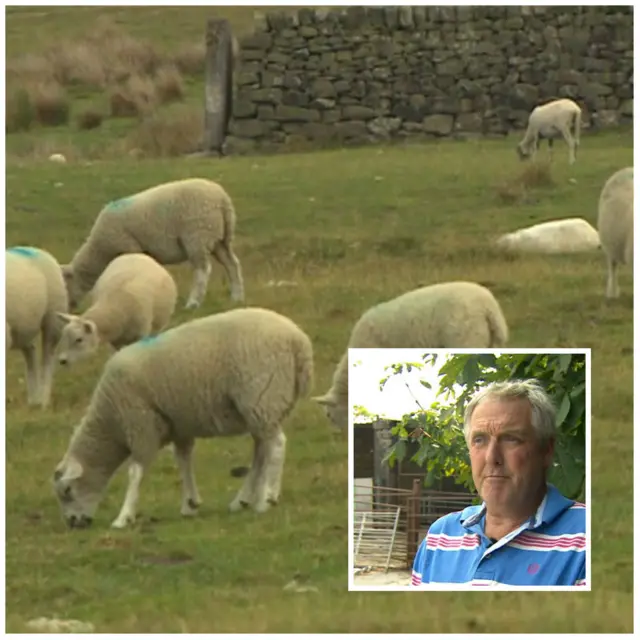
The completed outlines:
[[[569,164],[576,161],[580,144],[582,110],[573,100],[562,98],[536,107],[529,115],[524,138],[517,146],[521,160],[535,157],[540,140],[549,142],[549,157],[553,140],[561,135],[569,145]]]

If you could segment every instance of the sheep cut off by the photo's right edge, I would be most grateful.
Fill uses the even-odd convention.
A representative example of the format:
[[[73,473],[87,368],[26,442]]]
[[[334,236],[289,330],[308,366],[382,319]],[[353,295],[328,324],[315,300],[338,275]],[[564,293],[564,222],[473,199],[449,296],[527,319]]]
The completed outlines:
[[[633,167],[616,171],[602,188],[598,234],[607,264],[605,297],[617,298],[618,265],[633,265]]]

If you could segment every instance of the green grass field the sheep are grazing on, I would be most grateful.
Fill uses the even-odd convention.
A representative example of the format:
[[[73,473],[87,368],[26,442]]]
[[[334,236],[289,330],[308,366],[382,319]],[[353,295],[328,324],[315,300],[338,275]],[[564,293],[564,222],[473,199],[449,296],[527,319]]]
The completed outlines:
[[[8,57],[26,50],[36,28],[71,38],[97,11],[11,10]],[[179,21],[178,13],[164,13],[171,11],[118,8],[117,14],[136,37],[159,44],[178,32],[179,40],[202,32],[206,10],[174,10]],[[248,21],[240,10],[234,19]],[[134,122],[118,126],[124,135]],[[7,631],[25,631],[29,619],[47,616],[88,621],[102,633],[631,632],[630,270],[621,274],[621,297],[606,302],[599,252],[509,258],[488,248],[497,233],[547,219],[581,216],[595,224],[605,180],[633,161],[630,130],[584,135],[574,167],[558,145],[553,184],[532,188],[519,203],[506,203],[500,188],[522,171],[515,136],[222,161],[78,153],[57,165],[24,152],[27,144],[54,149],[60,139],[83,149],[93,135],[69,125],[8,136],[7,246],[39,245],[65,262],[108,200],[189,176],[219,181],[238,212],[236,250],[247,304],[279,311],[309,334],[318,392],[329,385],[363,310],[445,280],[491,288],[511,329],[510,346],[591,347],[593,587],[581,594],[348,593],[346,438],[311,401],[287,421],[282,501],[272,511],[227,513],[240,482],[229,471],[248,462],[251,443],[209,440],[196,447],[204,499],[197,519],[179,515],[179,477],[167,450],[145,479],[141,520],[131,531],[108,528],[124,495],[123,473],[93,528],[68,531],[50,478],[108,350],[59,371],[47,411],[27,408],[23,363],[12,352],[6,372]],[[171,270],[182,302],[190,271]],[[174,323],[230,306],[214,265],[204,307],[181,310]],[[283,590],[296,574],[318,591]]]

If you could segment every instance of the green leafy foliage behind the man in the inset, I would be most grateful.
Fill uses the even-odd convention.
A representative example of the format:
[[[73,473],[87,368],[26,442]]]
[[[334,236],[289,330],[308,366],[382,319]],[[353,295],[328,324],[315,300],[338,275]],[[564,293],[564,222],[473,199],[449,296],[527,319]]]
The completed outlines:
[[[434,354],[424,354],[424,365],[435,365]],[[390,377],[424,366],[409,362],[395,364],[381,380],[381,388]],[[453,476],[457,483],[473,490],[469,455],[462,427],[464,409],[479,389],[491,382],[535,378],[539,380],[557,407],[556,444],[549,481],[565,495],[584,497],[586,444],[586,379],[583,354],[454,354],[439,370],[439,394],[452,399],[449,404],[434,403],[422,411],[405,415],[393,427],[397,440],[388,454],[388,462],[404,460],[412,443],[418,450],[411,460],[424,465],[425,484],[440,477]],[[429,386],[423,381],[423,384]],[[462,391],[454,391],[454,385]]]

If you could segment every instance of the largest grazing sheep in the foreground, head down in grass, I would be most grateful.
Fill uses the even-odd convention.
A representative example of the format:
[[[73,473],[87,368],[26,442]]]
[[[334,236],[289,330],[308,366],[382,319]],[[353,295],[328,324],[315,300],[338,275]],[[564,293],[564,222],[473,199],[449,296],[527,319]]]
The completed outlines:
[[[91,524],[101,496],[129,458],[114,528],[135,521],[140,483],[173,444],[183,516],[201,504],[192,467],[196,438],[249,433],[253,462],[231,512],[277,504],[285,456],[282,423],[313,383],[311,340],[292,320],[261,308],[197,318],[116,352],[53,475],[70,527]]]

